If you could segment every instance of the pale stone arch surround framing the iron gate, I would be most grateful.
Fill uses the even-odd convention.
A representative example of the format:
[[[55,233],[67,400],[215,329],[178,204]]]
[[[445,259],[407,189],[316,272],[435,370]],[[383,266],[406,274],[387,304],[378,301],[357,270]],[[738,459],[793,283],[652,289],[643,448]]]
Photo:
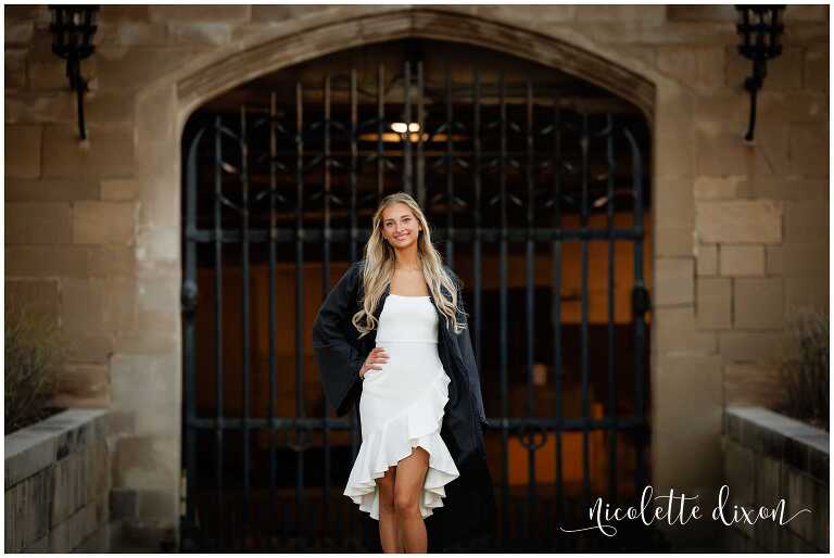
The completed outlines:
[[[300,27],[304,27],[300,30]],[[692,242],[692,179],[694,155],[688,145],[691,136],[692,97],[677,83],[639,60],[623,58],[614,49],[602,48],[574,29],[558,28],[553,35],[533,31],[504,23],[476,17],[459,12],[437,9],[380,10],[375,7],[356,8],[356,16],[345,18],[331,12],[304,18],[293,33],[269,33],[248,37],[242,41],[218,48],[211,54],[195,59],[187,67],[165,75],[147,86],[137,96],[136,104],[136,162],[140,188],[140,214],[137,238],[137,287],[139,293],[162,292],[165,300],[179,300],[181,253],[180,244],[180,183],[182,128],[190,114],[206,100],[239,84],[281,67],[321,56],[334,51],[384,42],[388,40],[422,37],[445,41],[467,42],[557,67],[578,78],[594,83],[637,105],[652,123],[654,134],[653,198],[656,200],[652,223],[658,241],[655,245],[653,305],[694,307],[694,258]],[[684,130],[684,131],[681,131]],[[670,203],[674,201],[674,204]],[[662,242],[661,242],[662,239]],[[680,257],[681,253],[688,257]],[[669,256],[666,257],[665,256]],[[678,257],[672,257],[678,256]],[[178,322],[179,305],[169,310],[174,324]],[[668,351],[665,337],[657,335],[664,324],[655,321],[652,329],[653,358],[650,363],[652,389],[655,401],[664,401],[667,391],[674,388],[658,382],[657,354]],[[153,332],[148,332],[150,340]],[[181,347],[179,329],[176,346]],[[150,343],[151,341],[149,341]],[[674,343],[679,350],[680,341]],[[179,417],[181,408],[180,348],[166,359],[172,370],[160,386],[172,395],[167,401],[174,408],[166,416]],[[118,407],[119,402],[114,401]],[[149,411],[152,413],[152,411]],[[657,406],[652,409],[652,421],[657,424]],[[694,418],[694,417],[693,417]],[[159,449],[148,467],[164,464],[164,475],[159,474],[153,490],[170,494],[170,506],[160,510],[160,522],[176,525],[179,513],[179,464],[181,432],[172,426],[168,435],[154,444]],[[659,429],[652,446],[653,484],[672,485],[671,467],[655,457],[674,443],[673,432]],[[675,481],[681,473],[674,472]],[[685,477],[685,475],[684,475]],[[142,479],[139,474],[137,479]],[[693,483],[698,478],[684,479]],[[147,485],[137,489],[147,489]],[[169,511],[169,513],[168,513]]]

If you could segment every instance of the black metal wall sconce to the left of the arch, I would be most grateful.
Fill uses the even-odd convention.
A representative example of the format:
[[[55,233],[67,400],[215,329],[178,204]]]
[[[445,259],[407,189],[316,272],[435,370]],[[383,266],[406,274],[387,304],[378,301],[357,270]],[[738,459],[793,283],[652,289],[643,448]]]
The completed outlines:
[[[87,139],[84,126],[84,93],[87,91],[87,80],[81,77],[81,61],[89,58],[96,50],[92,36],[98,27],[96,13],[98,5],[50,5],[52,11],[52,52],[66,60],[66,77],[70,87],[78,94],[78,134]]]

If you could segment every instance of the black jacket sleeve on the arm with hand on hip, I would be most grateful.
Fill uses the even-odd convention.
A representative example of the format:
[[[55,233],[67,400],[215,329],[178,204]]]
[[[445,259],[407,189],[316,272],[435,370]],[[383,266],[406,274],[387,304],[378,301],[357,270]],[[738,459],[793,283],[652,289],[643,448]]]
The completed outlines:
[[[346,415],[362,393],[364,357],[351,324],[357,293],[357,266],[348,268],[328,293],[313,322],[313,350],[327,401],[337,416]]]

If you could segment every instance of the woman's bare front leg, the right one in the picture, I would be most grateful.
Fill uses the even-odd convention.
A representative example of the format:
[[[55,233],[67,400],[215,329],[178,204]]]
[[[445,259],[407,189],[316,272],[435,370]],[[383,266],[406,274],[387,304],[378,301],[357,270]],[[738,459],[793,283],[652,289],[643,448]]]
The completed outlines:
[[[428,540],[426,523],[420,515],[422,486],[429,469],[429,453],[420,446],[396,466],[394,508],[405,536],[406,553],[426,553]]]

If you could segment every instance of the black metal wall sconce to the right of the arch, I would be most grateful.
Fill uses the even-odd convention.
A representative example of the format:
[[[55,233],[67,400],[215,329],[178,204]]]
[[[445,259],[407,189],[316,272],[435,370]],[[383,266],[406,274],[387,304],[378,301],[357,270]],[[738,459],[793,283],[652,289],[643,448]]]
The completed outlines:
[[[742,36],[738,53],[753,61],[753,75],[744,80],[744,88],[750,92],[750,124],[744,139],[753,141],[753,130],[756,127],[756,93],[768,75],[768,60],[782,53],[779,43],[784,29],[781,22],[784,4],[737,4],[738,23],[736,31]],[[750,21],[756,20],[756,21]]]

